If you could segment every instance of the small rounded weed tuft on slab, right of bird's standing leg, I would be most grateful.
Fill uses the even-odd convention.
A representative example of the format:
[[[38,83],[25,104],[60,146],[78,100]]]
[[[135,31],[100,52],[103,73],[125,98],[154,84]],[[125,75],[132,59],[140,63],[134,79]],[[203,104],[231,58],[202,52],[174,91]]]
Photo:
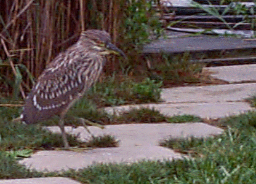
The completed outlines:
[[[92,137],[86,142],[86,147],[90,148],[108,148],[108,147],[118,147],[119,140],[114,136],[103,135]]]

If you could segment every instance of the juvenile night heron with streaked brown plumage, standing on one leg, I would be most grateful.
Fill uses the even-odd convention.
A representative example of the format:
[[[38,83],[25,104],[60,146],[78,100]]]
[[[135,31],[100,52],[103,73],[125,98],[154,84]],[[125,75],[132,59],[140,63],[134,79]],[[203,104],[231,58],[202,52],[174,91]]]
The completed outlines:
[[[78,42],[60,53],[39,76],[26,98],[21,120],[31,124],[58,115],[63,144],[68,148],[63,121],[66,112],[97,81],[106,55],[125,56],[110,40],[105,31],[82,32]]]

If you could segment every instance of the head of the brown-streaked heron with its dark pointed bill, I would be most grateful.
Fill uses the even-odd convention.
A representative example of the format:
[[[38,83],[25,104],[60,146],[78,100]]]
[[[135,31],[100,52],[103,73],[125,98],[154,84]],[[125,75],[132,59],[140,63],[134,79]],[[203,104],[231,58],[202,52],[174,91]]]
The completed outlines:
[[[90,50],[94,50],[100,55],[121,55],[126,58],[126,55],[116,45],[111,44],[110,34],[106,31],[100,31],[97,29],[89,29],[83,31],[80,40]]]

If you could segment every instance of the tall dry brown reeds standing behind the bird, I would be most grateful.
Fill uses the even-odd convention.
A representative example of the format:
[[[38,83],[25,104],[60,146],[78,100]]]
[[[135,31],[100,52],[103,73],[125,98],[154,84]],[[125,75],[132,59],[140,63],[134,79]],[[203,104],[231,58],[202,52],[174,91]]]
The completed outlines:
[[[15,68],[23,76],[19,85],[29,91],[33,77],[37,78],[57,53],[76,42],[82,30],[103,29],[114,43],[123,40],[120,33],[126,29],[126,9],[133,2],[137,1],[1,0],[0,39],[10,53],[7,56],[0,45],[0,79],[6,79],[0,80],[1,89],[13,87]],[[113,60],[110,68],[117,65]]]

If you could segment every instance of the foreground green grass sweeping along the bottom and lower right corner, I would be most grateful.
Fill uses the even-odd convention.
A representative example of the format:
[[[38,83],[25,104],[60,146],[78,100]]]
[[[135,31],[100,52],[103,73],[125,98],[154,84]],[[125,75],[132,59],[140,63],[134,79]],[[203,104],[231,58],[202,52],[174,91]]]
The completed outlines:
[[[28,171],[0,153],[0,178],[62,176],[82,183],[255,183],[256,112],[222,119],[222,135],[198,139],[166,139],[166,147],[193,158],[140,161],[132,164],[95,164],[77,171]],[[6,163],[6,164],[2,164]],[[7,167],[8,166],[8,167]]]

